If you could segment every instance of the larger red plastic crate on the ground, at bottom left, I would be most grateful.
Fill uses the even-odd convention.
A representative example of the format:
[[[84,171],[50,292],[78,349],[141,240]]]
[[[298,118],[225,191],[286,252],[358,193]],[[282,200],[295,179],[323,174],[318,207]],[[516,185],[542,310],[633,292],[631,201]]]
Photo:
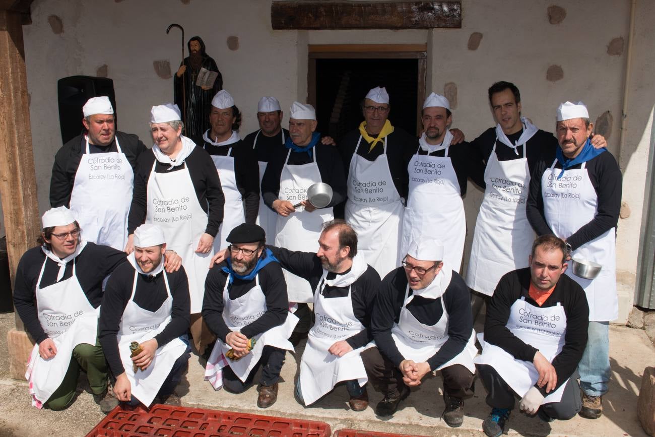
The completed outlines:
[[[118,406],[86,437],[329,437],[330,434],[329,425],[323,422],[155,404],[150,410]]]

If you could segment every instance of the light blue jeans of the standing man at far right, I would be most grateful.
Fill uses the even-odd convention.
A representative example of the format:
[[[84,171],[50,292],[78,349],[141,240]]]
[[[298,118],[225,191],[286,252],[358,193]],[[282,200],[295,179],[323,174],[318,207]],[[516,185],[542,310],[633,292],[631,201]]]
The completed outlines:
[[[589,322],[589,339],[578,364],[580,389],[588,396],[603,396],[610,381],[609,322]]]

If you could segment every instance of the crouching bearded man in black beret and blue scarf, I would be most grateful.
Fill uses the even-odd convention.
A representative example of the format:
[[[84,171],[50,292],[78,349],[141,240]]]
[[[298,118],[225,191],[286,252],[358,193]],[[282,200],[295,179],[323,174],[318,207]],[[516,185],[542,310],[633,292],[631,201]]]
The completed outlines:
[[[278,379],[288,340],[298,318],[289,311],[286,282],[277,259],[265,247],[258,225],[242,223],[227,236],[230,256],[207,275],[202,317],[218,339],[205,379],[218,390],[249,389],[262,367],[257,406],[278,398]]]

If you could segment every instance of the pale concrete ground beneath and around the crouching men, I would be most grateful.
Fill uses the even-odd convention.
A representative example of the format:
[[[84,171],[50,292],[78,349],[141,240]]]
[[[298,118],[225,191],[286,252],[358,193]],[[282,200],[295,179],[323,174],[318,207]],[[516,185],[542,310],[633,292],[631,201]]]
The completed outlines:
[[[37,410],[29,401],[27,383],[9,379],[7,369],[7,331],[14,326],[13,314],[0,314],[0,436],[84,436],[103,418],[88,390],[81,389],[77,400],[65,411]],[[429,377],[418,389],[413,389],[401,409],[390,419],[377,419],[373,409],[355,413],[348,409],[345,387],[337,387],[311,408],[303,408],[293,399],[293,376],[304,342],[297,354],[287,354],[282,369],[278,402],[269,409],[256,406],[255,387],[244,394],[234,395],[212,389],[202,381],[202,360],[193,356],[189,372],[178,387],[184,406],[215,408],[244,413],[278,415],[324,421],[334,432],[340,428],[356,428],[378,432],[395,432],[424,436],[481,436],[481,423],[489,413],[484,402],[485,390],[476,383],[476,396],[464,406],[464,425],[449,428],[440,420],[443,400],[437,394],[441,388],[439,375]],[[574,417],[570,421],[550,424],[528,417],[515,410],[510,417],[509,434],[529,436],[645,436],[637,419],[637,397],[646,366],[655,363],[655,348],[643,330],[612,326],[610,328],[612,381],[604,398],[605,413],[596,420]],[[83,381],[83,377],[81,378]],[[381,395],[369,390],[371,406]]]

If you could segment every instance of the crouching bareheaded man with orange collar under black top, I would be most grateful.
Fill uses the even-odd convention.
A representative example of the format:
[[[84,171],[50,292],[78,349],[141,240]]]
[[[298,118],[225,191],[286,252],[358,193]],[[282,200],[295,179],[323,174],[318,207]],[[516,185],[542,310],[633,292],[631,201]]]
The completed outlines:
[[[576,368],[587,344],[589,307],[584,290],[563,273],[563,240],[533,243],[529,267],[500,278],[487,306],[477,370],[491,406],[482,428],[498,437],[519,408],[544,421],[571,419],[580,408]]]

